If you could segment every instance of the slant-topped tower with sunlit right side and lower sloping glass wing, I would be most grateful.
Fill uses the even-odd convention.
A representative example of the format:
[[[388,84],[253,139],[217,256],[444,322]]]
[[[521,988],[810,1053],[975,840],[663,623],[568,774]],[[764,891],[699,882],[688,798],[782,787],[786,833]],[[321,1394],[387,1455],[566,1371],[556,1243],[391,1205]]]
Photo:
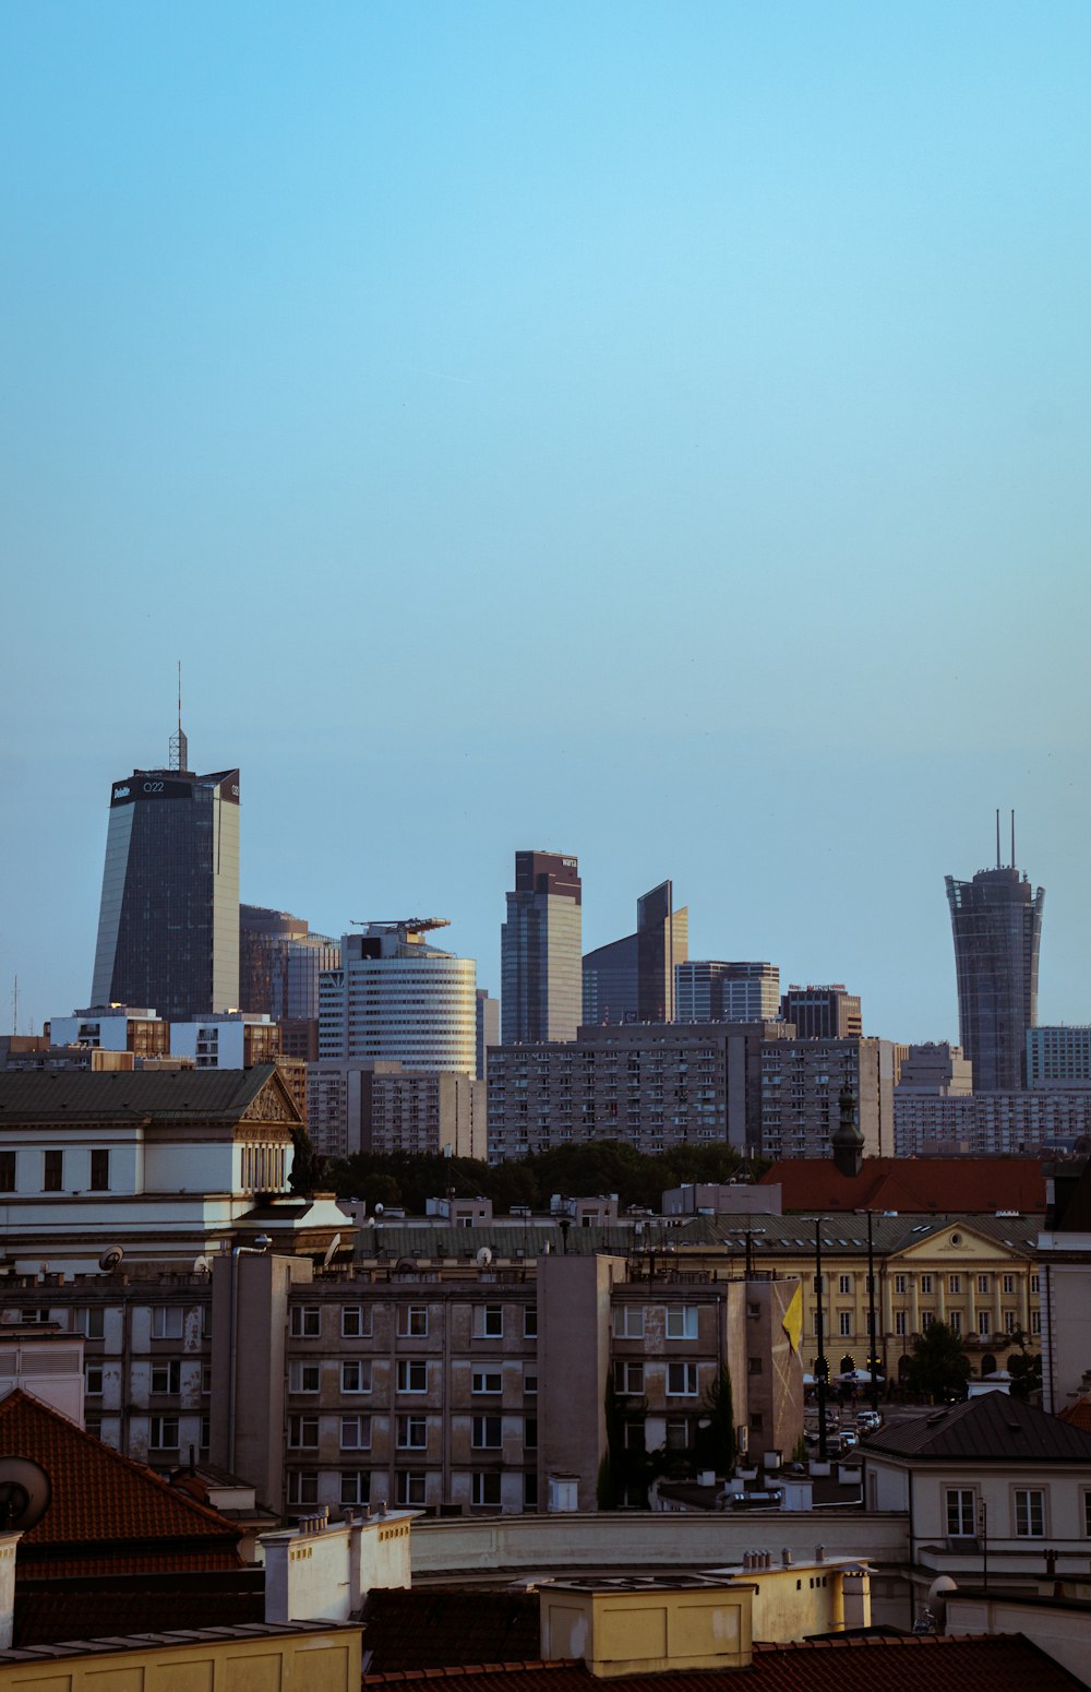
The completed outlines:
[[[688,939],[690,914],[675,910],[673,882],[660,882],[636,902],[634,934],[584,956],[584,1022],[673,1022]]]

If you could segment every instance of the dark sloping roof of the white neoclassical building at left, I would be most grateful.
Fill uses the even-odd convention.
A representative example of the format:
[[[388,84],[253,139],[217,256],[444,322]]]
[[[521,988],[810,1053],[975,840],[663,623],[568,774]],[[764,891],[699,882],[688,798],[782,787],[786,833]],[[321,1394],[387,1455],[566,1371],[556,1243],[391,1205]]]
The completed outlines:
[[[250,1069],[0,1069],[0,1125],[101,1118],[237,1122],[269,1083],[291,1093],[276,1064]],[[298,1115],[294,1103],[293,1112]]]

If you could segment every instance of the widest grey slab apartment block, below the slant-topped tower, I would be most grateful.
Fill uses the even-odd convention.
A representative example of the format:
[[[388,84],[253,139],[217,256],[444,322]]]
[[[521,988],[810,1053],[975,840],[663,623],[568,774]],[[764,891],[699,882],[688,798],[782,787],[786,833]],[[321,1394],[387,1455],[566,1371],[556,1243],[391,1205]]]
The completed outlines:
[[[489,1161],[617,1139],[641,1152],[758,1144],[761,1051],[778,1022],[585,1025],[489,1058]]]

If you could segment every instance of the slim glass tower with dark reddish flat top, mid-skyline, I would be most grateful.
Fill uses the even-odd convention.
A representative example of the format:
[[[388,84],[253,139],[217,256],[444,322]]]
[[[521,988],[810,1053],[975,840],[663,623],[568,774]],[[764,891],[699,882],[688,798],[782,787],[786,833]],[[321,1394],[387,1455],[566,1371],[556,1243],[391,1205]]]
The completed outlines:
[[[575,858],[516,853],[501,929],[501,1027],[513,1041],[572,1041],[580,1020],[582,890]]]

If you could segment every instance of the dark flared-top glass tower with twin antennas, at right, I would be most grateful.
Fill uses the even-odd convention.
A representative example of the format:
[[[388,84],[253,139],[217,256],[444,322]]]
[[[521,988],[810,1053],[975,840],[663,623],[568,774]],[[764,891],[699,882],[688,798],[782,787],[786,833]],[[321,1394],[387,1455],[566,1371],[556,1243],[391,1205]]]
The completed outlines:
[[[1015,860],[1015,827],[1012,829]],[[1039,948],[1045,888],[1000,863],[973,882],[947,876],[959,986],[959,1037],[973,1063],[974,1093],[1027,1085],[1027,1029],[1039,1020]]]

